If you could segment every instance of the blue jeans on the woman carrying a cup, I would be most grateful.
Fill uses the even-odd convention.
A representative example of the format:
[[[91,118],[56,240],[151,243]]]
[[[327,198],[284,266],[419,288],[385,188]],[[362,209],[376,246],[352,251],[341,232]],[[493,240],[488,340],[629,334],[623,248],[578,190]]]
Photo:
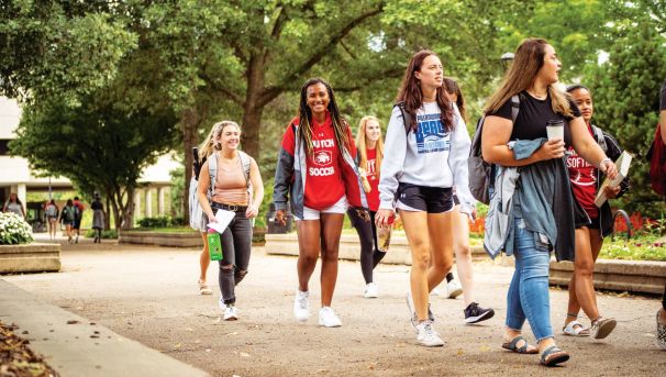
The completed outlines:
[[[507,295],[507,326],[521,330],[525,319],[537,341],[553,337],[548,297],[551,253],[536,250],[534,233],[521,218],[513,222],[515,270]]]

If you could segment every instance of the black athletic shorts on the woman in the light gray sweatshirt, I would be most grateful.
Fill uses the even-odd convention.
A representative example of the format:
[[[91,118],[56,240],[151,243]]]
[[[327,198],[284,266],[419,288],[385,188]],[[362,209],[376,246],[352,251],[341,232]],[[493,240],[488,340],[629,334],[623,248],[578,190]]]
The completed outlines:
[[[398,186],[397,207],[406,211],[448,212],[453,209],[453,189],[401,182]]]

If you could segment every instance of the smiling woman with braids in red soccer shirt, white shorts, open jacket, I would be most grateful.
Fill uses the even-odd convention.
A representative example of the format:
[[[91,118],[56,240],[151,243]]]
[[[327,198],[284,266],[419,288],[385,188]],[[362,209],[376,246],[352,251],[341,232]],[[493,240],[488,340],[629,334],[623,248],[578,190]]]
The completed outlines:
[[[337,280],[337,250],[344,213],[347,202],[352,207],[363,207],[359,212],[367,208],[355,155],[352,133],[337,110],[333,89],[320,78],[309,79],[301,89],[298,115],[282,136],[273,193],[276,221],[285,223],[289,195],[297,220],[299,287],[293,314],[298,321],[307,321],[310,317],[308,282],[321,246],[319,324],[326,328],[342,325],[331,309],[331,301]]]

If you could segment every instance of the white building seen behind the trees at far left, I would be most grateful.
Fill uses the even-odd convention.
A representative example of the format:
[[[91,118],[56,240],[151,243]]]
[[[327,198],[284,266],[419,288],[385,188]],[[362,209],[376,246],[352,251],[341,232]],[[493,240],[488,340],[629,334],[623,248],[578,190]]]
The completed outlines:
[[[69,179],[48,177],[43,171],[33,171],[27,159],[9,155],[8,143],[16,138],[15,130],[20,120],[21,108],[16,101],[0,97],[0,203],[3,204],[7,201],[10,192],[16,192],[23,206],[26,206],[27,192],[48,191],[49,189],[54,191],[73,190],[74,187]],[[155,165],[144,169],[140,182],[145,186],[136,191],[134,198],[137,209],[142,208],[141,202],[144,201],[144,213],[135,213],[137,218],[160,215],[167,212],[164,195],[171,185],[169,171],[178,165],[178,162],[169,155],[165,155]],[[152,208],[153,192],[157,195],[156,211],[153,211]]]

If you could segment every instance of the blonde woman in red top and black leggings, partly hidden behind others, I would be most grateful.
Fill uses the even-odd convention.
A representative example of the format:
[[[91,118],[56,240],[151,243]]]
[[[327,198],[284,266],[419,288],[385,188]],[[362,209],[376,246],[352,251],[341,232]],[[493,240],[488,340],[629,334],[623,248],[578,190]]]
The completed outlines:
[[[384,142],[381,141],[381,126],[375,117],[364,117],[358,124],[356,135],[358,147],[357,163],[362,175],[365,175],[368,187],[365,189],[370,210],[370,221],[358,214],[356,209],[347,211],[352,225],[358,233],[360,240],[360,270],[365,279],[365,297],[377,298],[379,296],[377,284],[373,279],[373,269],[386,255],[379,250],[377,242],[377,225],[375,225],[375,213],[379,208],[379,167],[384,157]],[[369,189],[369,191],[368,191]]]

